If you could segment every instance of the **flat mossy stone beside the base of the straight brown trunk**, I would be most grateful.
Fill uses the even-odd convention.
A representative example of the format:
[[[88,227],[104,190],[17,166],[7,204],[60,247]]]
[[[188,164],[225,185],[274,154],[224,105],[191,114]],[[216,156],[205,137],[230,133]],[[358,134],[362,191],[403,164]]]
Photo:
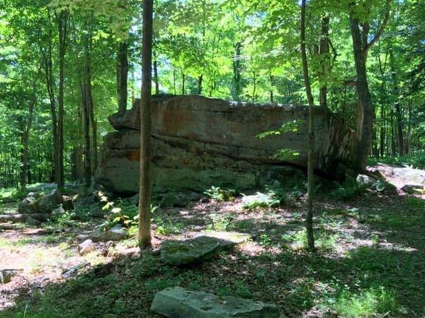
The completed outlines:
[[[234,242],[216,237],[198,236],[188,240],[168,240],[162,243],[161,259],[171,266],[183,266],[211,259]]]

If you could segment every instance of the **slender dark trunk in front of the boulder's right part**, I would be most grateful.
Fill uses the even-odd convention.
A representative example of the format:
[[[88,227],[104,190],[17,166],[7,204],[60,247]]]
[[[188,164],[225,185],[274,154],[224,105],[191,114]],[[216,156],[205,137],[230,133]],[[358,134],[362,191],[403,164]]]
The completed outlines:
[[[302,74],[304,76],[305,93],[308,100],[308,163],[307,163],[307,216],[305,217],[305,228],[307,230],[307,247],[314,250],[313,232],[313,186],[314,186],[314,100],[308,74],[307,54],[305,49],[305,10],[306,0],[301,1],[301,61]]]

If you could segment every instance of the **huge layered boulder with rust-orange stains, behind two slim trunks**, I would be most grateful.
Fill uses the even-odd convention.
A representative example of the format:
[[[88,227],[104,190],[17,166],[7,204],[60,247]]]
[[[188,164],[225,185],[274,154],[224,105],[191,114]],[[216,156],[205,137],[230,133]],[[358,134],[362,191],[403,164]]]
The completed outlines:
[[[290,131],[259,139],[264,131],[297,122]],[[97,181],[113,192],[138,191],[140,107],[113,114],[103,141]],[[351,167],[356,136],[344,120],[315,110],[316,169],[337,177]],[[285,149],[285,158],[272,158]],[[199,95],[152,100],[152,160],[157,189],[253,188],[285,179],[307,165],[307,107],[229,102]],[[276,177],[277,176],[277,177]]]

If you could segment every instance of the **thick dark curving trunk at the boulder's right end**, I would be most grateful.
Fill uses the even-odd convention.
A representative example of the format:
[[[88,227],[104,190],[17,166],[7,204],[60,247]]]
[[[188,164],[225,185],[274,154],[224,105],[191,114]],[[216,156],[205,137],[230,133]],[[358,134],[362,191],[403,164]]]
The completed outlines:
[[[351,37],[353,39],[354,63],[356,65],[357,93],[359,102],[361,102],[361,105],[363,106],[363,111],[361,112],[363,115],[363,125],[354,167],[356,171],[361,172],[365,170],[368,163],[370,143],[373,136],[375,107],[373,105],[372,98],[370,97],[368,79],[366,77],[366,66],[359,22],[353,11],[350,12],[350,27]]]

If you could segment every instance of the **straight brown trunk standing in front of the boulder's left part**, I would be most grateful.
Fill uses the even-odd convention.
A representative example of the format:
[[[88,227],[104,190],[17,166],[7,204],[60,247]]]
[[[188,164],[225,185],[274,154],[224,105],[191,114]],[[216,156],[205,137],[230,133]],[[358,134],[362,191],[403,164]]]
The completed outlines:
[[[151,245],[151,89],[152,89],[152,16],[153,0],[143,0],[142,93],[140,97],[140,179],[139,246]]]

